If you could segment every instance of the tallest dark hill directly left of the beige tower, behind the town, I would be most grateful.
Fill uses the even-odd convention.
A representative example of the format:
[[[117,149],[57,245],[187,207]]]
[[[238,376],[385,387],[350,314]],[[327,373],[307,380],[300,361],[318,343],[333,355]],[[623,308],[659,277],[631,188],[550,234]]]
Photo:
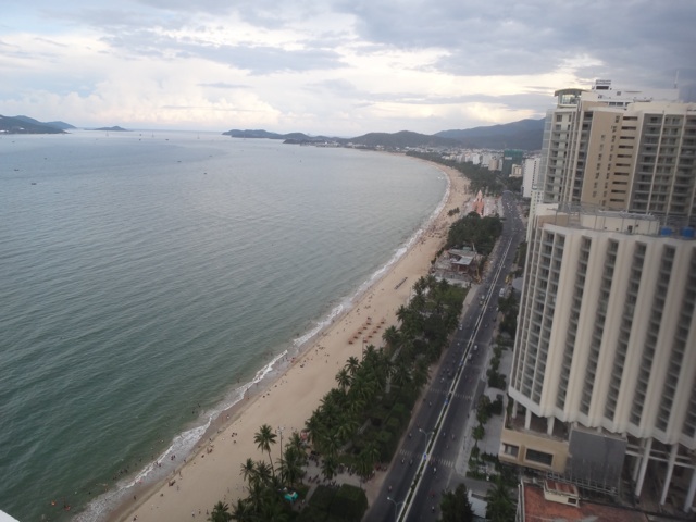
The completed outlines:
[[[435,134],[456,139],[474,149],[522,149],[538,150],[544,136],[544,119],[521,120],[504,125],[474,127],[464,130],[443,130]]]

